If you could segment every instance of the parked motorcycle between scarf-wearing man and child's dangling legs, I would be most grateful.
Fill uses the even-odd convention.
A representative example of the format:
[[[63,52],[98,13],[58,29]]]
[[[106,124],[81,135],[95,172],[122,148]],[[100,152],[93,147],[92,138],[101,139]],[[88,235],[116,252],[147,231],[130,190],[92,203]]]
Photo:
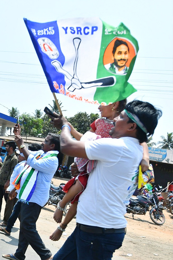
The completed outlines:
[[[64,185],[65,183],[61,183],[59,187],[57,187],[54,186],[53,183],[50,183],[49,198],[46,204],[57,207],[57,204],[60,200],[62,200],[63,196],[65,195],[65,192],[63,192]]]

